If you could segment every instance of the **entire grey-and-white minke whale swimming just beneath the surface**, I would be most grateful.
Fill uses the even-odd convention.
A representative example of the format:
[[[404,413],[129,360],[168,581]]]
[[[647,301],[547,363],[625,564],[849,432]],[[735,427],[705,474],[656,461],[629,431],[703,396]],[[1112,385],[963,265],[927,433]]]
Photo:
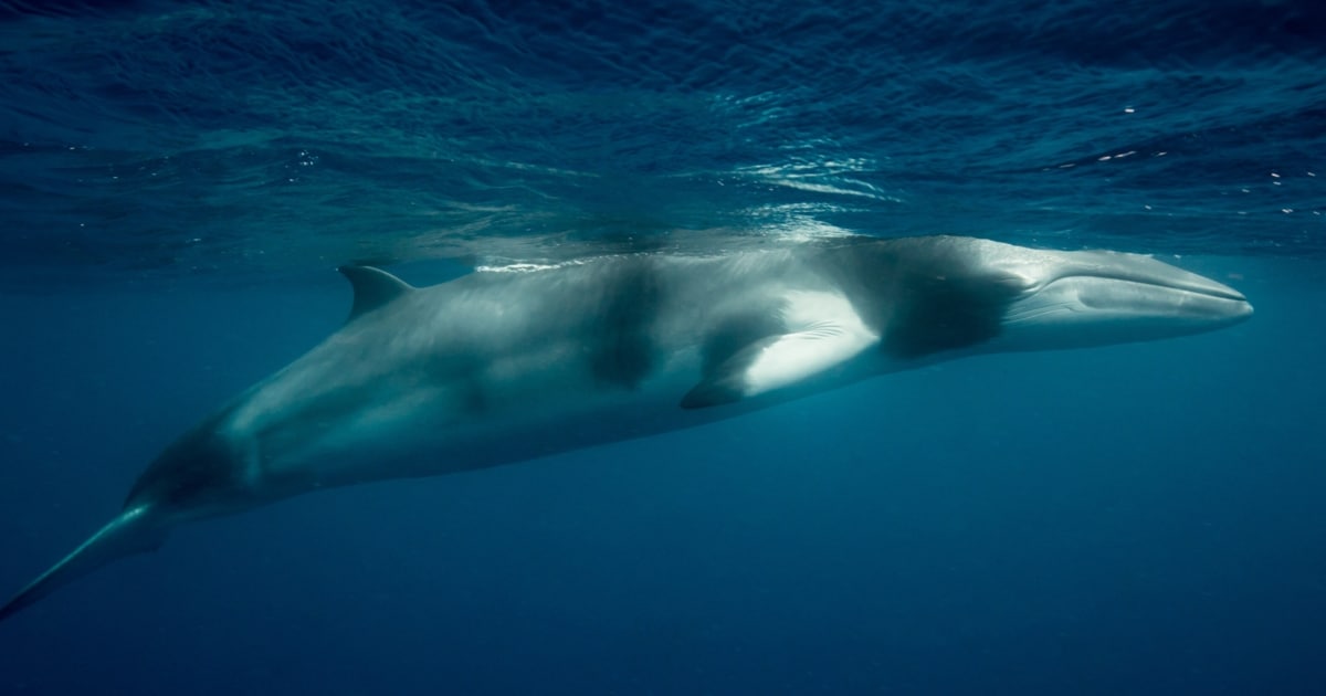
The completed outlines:
[[[1155,259],[981,239],[625,255],[412,288],[339,269],[345,325],[204,418],[7,619],[191,520],[687,428],[983,353],[1151,341],[1252,316]]]

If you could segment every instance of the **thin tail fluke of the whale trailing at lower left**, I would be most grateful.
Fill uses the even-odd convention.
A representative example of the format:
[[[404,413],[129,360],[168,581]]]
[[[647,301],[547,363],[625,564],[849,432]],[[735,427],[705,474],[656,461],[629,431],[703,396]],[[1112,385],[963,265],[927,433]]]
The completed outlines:
[[[110,524],[101,528],[91,538],[82,542],[58,563],[50,566],[50,570],[29,582],[27,587],[0,607],[0,622],[111,561],[156,550],[166,541],[166,528],[160,525],[159,520],[154,520],[150,512],[150,508],[143,505],[119,513]]]

